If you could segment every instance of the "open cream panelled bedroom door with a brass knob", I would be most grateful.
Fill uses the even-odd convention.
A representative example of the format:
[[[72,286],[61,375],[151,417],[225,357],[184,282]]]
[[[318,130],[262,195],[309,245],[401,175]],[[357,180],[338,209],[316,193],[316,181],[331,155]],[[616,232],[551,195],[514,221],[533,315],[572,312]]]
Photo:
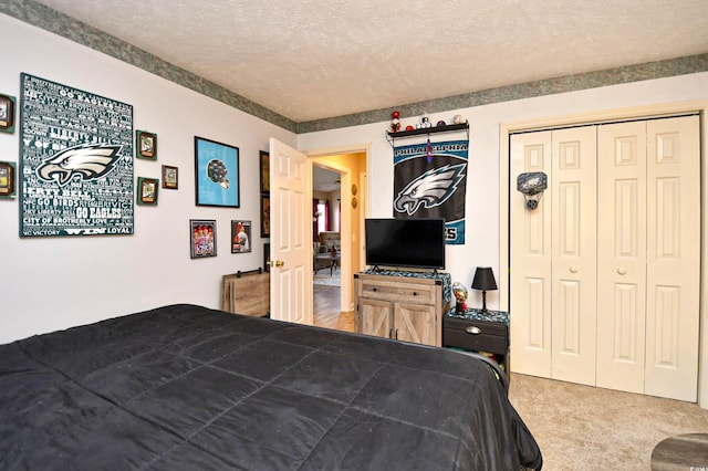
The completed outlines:
[[[311,325],[310,166],[306,155],[270,139],[271,317]]]

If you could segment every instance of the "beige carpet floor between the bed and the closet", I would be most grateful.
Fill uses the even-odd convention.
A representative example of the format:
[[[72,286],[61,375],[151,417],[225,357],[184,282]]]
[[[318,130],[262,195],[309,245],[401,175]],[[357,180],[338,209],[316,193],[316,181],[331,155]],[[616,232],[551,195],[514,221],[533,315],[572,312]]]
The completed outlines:
[[[509,398],[541,448],[544,471],[649,470],[662,440],[708,432],[707,409],[671,399],[513,373]]]

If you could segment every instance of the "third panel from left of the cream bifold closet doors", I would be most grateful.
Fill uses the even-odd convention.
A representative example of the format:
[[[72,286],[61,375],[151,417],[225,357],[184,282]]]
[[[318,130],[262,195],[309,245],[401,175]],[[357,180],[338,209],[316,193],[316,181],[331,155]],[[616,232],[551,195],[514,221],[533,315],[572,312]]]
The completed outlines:
[[[597,130],[597,386],[644,393],[646,123]]]

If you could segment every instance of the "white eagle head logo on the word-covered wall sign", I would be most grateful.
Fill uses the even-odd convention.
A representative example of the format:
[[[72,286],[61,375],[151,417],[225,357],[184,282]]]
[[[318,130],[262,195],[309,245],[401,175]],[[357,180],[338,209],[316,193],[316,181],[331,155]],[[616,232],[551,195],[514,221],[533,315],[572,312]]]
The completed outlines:
[[[81,180],[96,180],[113,170],[121,159],[123,146],[84,144],[54,154],[37,167],[37,176],[44,181],[56,181],[61,187],[74,176]]]

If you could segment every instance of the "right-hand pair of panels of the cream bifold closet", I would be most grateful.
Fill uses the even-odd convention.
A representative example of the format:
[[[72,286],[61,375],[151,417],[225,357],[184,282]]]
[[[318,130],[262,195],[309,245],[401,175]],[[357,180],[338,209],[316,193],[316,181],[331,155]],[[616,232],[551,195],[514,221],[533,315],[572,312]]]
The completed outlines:
[[[696,401],[698,117],[598,130],[597,386]]]

